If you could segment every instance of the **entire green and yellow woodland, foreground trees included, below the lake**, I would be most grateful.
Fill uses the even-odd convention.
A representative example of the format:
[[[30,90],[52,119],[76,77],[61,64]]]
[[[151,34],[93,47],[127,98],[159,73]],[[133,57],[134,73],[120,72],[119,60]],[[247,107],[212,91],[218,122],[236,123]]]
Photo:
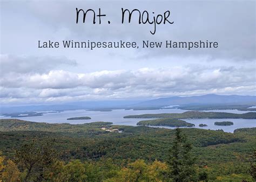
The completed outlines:
[[[0,120],[3,181],[254,181],[256,128]],[[109,132],[102,128],[123,131]],[[254,179],[253,179],[254,178]]]

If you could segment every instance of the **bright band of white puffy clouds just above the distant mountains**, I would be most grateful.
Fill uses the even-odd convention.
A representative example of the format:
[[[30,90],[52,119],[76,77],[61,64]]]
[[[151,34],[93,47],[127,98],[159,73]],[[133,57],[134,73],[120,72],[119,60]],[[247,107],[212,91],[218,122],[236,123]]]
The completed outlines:
[[[126,99],[206,93],[248,94],[256,86],[254,68],[205,67],[169,68],[74,73],[12,73],[0,79],[3,100],[33,99],[65,101],[81,99]]]

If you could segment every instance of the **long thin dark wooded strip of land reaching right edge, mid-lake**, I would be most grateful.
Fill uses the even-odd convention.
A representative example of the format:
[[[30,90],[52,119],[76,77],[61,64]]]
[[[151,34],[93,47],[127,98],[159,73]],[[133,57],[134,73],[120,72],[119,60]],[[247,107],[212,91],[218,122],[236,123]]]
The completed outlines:
[[[186,111],[184,113],[128,115],[128,116],[124,116],[124,118],[173,118],[173,119],[242,118],[242,119],[256,119],[256,112],[249,112],[249,113],[244,113],[244,114],[234,114],[234,113],[221,113],[221,112]]]

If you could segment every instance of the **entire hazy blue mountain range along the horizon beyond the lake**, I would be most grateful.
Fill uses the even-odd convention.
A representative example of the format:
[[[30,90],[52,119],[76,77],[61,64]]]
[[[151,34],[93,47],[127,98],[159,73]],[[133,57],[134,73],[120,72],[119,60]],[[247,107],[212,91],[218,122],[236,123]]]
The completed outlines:
[[[37,105],[37,106],[17,106],[17,107],[0,107],[0,114],[20,113],[24,111],[60,111],[60,110],[111,110],[111,109],[159,109],[168,106],[180,106],[180,109],[186,110],[209,110],[209,109],[239,109],[239,110],[256,110],[247,109],[250,106],[256,106],[256,96],[242,95],[201,95],[188,97],[163,97],[154,100],[109,100],[109,101],[81,101],[55,105]],[[181,107],[182,106],[182,107]],[[203,107],[202,107],[203,106]],[[223,107],[228,106],[228,107]],[[237,107],[239,106],[239,107]]]

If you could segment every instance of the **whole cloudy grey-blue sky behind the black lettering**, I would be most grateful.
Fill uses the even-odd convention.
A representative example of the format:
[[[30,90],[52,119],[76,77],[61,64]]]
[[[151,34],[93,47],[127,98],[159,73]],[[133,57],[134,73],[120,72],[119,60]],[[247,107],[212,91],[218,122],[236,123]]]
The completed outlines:
[[[3,1],[0,104],[256,93],[255,1]],[[76,24],[101,8],[111,24]],[[121,8],[173,24],[121,24]],[[88,17],[90,18],[90,17]],[[38,48],[41,41],[218,41],[214,49]]]

